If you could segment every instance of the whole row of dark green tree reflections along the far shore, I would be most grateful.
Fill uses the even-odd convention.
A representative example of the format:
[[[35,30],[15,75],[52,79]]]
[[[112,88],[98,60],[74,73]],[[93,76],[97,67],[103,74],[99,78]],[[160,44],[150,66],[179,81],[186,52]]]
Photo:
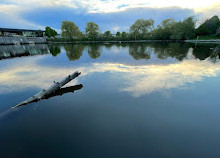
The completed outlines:
[[[84,47],[88,49],[88,55],[92,59],[97,59],[101,56],[105,49],[111,49],[112,47],[127,47],[129,54],[135,59],[150,59],[154,54],[159,59],[175,58],[182,61],[187,57],[189,49],[192,49],[192,53],[195,58],[205,60],[208,57],[212,62],[217,62],[220,55],[220,45],[216,44],[204,44],[204,43],[184,43],[184,42],[154,42],[154,43],[106,43],[106,44],[65,44],[64,49],[66,55],[70,61],[79,60],[83,54]],[[57,56],[61,52],[59,45],[49,45],[50,52],[53,56]]]

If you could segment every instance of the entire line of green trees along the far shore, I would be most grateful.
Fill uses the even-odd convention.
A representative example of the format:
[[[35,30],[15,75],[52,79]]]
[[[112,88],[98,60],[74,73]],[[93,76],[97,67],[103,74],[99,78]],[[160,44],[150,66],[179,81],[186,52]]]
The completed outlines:
[[[196,27],[194,17],[183,21],[165,19],[155,28],[153,19],[138,19],[130,26],[129,32],[116,34],[111,31],[101,33],[95,22],[88,22],[81,32],[74,22],[65,20],[61,25],[62,38],[53,38],[57,36],[57,32],[48,26],[45,28],[45,35],[56,41],[188,40],[198,36],[220,37],[220,20],[218,16],[213,16]]]

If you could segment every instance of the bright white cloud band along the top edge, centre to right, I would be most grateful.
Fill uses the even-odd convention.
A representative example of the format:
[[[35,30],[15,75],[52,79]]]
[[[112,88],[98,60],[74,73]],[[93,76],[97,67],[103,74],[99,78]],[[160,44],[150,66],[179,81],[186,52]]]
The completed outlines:
[[[123,11],[128,8],[164,8],[164,7],[180,7],[193,9],[195,11],[202,11],[210,6],[217,6],[220,4],[219,0],[81,0],[77,1],[79,5],[87,8],[90,13],[109,13]]]

